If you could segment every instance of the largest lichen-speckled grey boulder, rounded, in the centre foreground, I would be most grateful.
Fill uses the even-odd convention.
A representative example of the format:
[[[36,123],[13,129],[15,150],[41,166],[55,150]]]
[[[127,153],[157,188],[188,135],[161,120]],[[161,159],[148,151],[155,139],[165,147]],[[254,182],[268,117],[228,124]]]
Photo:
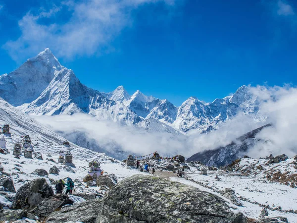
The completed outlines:
[[[103,198],[96,223],[246,223],[225,201],[198,188],[159,177],[134,175]]]

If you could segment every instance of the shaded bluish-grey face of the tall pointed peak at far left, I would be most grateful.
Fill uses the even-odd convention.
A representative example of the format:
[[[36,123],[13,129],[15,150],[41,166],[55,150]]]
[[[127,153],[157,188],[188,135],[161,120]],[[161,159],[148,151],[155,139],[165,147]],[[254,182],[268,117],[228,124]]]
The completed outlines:
[[[63,66],[49,49],[28,59],[18,69],[0,75],[0,97],[13,106],[37,99]]]

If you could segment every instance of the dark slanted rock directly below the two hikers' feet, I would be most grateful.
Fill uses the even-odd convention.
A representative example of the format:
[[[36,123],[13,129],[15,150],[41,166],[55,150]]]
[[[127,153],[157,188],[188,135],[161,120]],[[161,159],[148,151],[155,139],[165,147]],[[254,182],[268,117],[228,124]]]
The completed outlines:
[[[57,208],[64,205],[72,205],[73,201],[65,194],[55,194],[52,197],[44,199],[36,208],[32,209],[28,214],[30,219],[35,219],[38,216],[40,220],[47,218]]]

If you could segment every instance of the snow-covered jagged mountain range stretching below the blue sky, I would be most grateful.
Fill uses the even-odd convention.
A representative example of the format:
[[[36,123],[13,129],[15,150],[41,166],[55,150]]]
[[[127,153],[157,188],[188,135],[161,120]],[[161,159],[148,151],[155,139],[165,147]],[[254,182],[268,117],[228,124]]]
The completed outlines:
[[[256,121],[267,118],[259,110],[262,101],[245,85],[233,95],[211,103],[190,97],[180,107],[166,99],[146,96],[139,90],[130,96],[123,86],[109,93],[99,92],[82,84],[49,49],[28,59],[15,71],[0,75],[0,97],[27,114],[87,113],[99,120],[173,136],[187,135],[192,129],[198,133],[216,130],[240,113]],[[73,135],[70,138],[73,139]],[[83,138],[76,143],[82,142],[81,146],[88,147],[87,141]],[[93,143],[92,149],[94,147]]]

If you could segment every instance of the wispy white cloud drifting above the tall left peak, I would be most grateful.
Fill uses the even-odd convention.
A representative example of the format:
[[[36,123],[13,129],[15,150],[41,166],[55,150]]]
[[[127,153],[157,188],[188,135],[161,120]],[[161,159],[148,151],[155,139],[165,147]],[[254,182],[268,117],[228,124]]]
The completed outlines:
[[[131,11],[149,3],[172,6],[174,0],[90,0],[79,3],[66,0],[49,10],[40,8],[38,13],[31,10],[18,22],[20,37],[6,42],[3,48],[14,60],[44,48],[66,58],[100,54],[108,50],[110,41],[123,28],[132,24]],[[61,9],[70,14],[69,20],[63,24],[59,22]],[[43,18],[51,18],[53,22],[44,24]]]

